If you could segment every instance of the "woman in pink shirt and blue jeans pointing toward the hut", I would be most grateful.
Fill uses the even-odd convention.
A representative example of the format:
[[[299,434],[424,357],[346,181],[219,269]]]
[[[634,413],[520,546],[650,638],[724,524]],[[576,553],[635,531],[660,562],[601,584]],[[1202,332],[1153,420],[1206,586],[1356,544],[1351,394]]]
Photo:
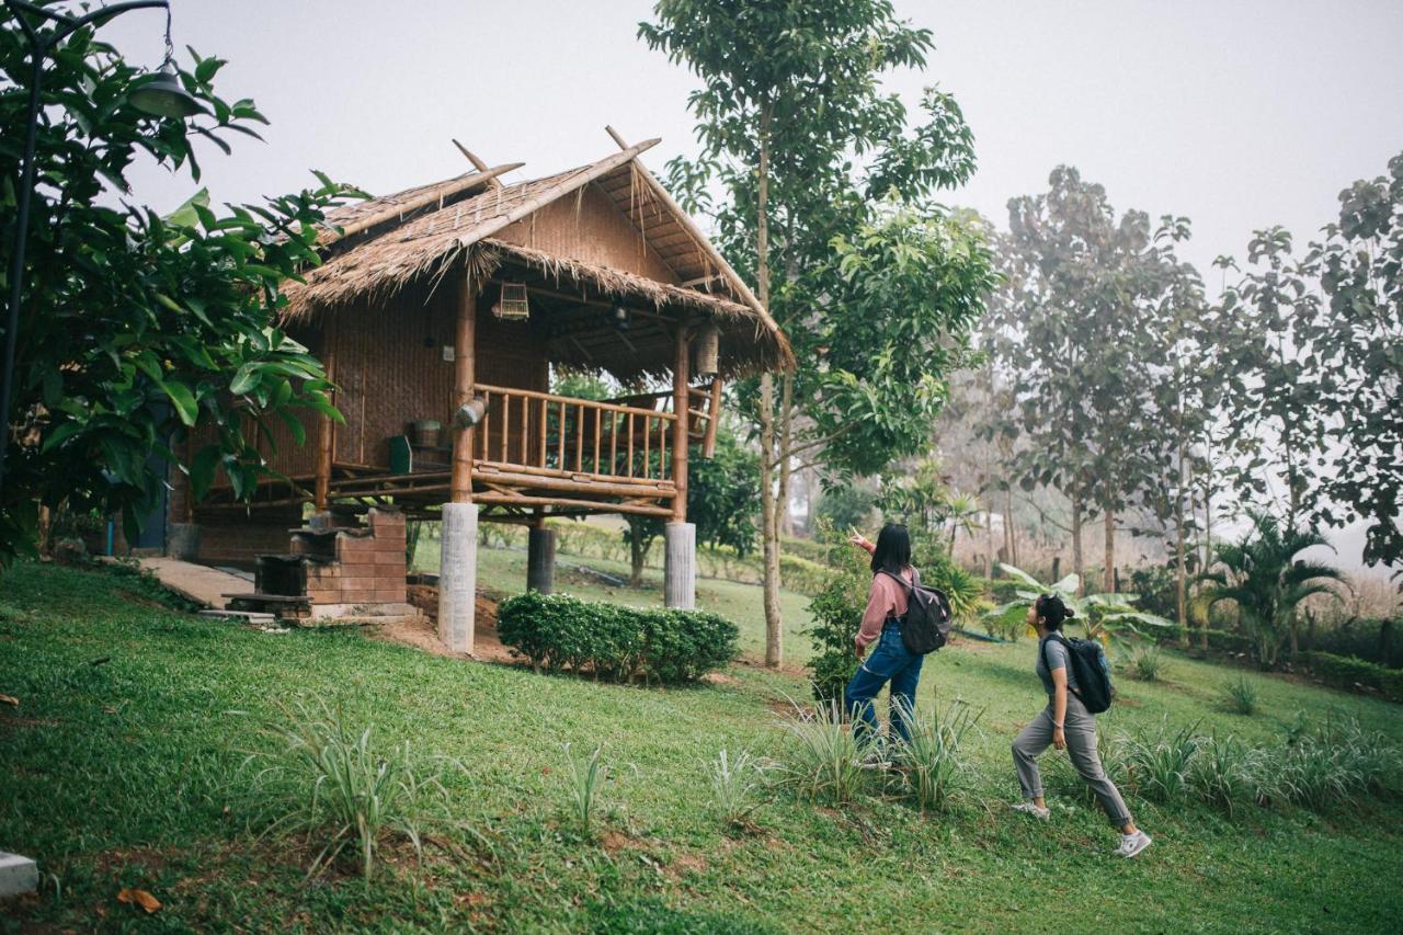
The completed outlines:
[[[908,587],[920,583],[920,576],[911,567],[911,533],[906,526],[888,522],[875,545],[859,535],[852,543],[871,553],[873,584],[867,591],[861,626],[853,639],[857,658],[867,658],[843,691],[843,708],[853,717],[853,733],[859,740],[871,741],[878,731],[873,698],[891,682],[891,731],[899,740],[909,740],[906,719],[916,709],[916,684],[925,661],[925,656],[906,651],[901,640]]]

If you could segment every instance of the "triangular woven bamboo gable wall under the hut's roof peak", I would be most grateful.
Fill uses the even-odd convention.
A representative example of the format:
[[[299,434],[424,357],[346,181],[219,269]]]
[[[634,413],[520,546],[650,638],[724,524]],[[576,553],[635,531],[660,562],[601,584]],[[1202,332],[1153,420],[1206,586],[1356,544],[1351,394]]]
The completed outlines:
[[[613,201],[593,185],[567,195],[494,234],[498,240],[595,263],[657,282],[678,284],[676,272],[648,248]]]

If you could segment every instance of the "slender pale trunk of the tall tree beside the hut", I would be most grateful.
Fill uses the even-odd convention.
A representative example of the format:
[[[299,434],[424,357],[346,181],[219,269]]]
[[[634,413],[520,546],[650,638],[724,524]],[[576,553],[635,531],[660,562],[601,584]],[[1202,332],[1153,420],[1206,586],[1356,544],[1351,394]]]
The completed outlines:
[[[756,178],[755,286],[760,305],[770,306],[770,119],[773,105],[760,105],[760,164]],[[784,622],[780,618],[780,538],[774,489],[774,379],[760,375],[760,550],[765,559],[765,664],[779,667],[784,657]]]

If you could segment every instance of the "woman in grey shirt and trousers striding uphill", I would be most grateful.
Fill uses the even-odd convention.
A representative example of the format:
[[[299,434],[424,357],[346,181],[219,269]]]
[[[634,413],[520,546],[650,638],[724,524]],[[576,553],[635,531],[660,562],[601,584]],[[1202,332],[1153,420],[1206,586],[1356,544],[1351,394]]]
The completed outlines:
[[[1013,741],[1013,765],[1019,771],[1024,799],[1013,807],[1037,818],[1048,817],[1037,757],[1048,744],[1065,750],[1076,772],[1106,809],[1111,824],[1121,830],[1121,845],[1115,848],[1115,854],[1132,858],[1150,845],[1150,838],[1135,827],[1120,790],[1101,769],[1101,758],[1096,752],[1096,716],[1086,710],[1078,696],[1070,650],[1061,633],[1062,622],[1070,616],[1075,612],[1055,594],[1044,594],[1028,608],[1028,622],[1038,630],[1037,674],[1047,691],[1048,705]]]

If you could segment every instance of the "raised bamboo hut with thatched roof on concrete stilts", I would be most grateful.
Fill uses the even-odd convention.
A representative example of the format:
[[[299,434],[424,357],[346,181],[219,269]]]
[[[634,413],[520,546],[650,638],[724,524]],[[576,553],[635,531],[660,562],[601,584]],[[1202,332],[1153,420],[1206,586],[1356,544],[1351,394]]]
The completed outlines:
[[[549,587],[546,517],[637,514],[666,521],[668,602],[690,605],[687,459],[710,453],[724,382],[791,354],[638,161],[658,140],[610,135],[619,152],[512,184],[499,177],[519,164],[463,150],[467,174],[327,218],[323,263],[286,289],[283,324],[327,365],[345,423],[323,418],[300,446],[275,431],[268,460],[285,480],[251,507],[227,487],[196,505],[178,489],[173,508],[198,525],[202,560],[286,552],[289,529],[292,555],[325,553],[317,536],[370,507],[379,519],[365,528],[391,538],[389,508],[442,518],[439,626],[470,649],[478,521],[530,525],[532,576]],[[550,392],[561,368],[668,389],[571,399]],[[323,517],[313,526],[307,503]],[[390,571],[354,588],[356,601],[390,599]]]

